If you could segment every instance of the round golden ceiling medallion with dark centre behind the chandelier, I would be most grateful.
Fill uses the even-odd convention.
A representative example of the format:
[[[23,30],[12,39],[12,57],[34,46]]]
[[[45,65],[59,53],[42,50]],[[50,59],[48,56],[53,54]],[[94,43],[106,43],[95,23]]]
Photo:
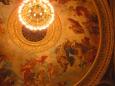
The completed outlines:
[[[36,52],[40,52],[56,45],[61,36],[61,28],[61,22],[57,15],[54,23],[50,25],[48,30],[45,32],[45,36],[42,37],[42,35],[39,35],[40,33],[43,34],[44,31],[39,31],[39,34],[37,31],[30,31],[29,33],[29,30],[25,31],[27,28],[24,28],[24,26],[19,22],[17,9],[15,9],[9,17],[7,30],[10,38],[15,44],[17,44],[17,46],[25,50],[35,50]],[[35,36],[36,33],[38,36]],[[34,35],[34,38],[32,38],[32,34]],[[30,36],[27,37],[27,35]]]

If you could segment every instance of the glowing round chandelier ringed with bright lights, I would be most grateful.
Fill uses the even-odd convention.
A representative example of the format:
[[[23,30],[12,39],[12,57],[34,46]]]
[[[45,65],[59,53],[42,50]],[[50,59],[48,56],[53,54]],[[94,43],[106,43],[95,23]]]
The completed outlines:
[[[49,0],[24,0],[18,9],[19,21],[31,31],[47,29],[54,21]]]

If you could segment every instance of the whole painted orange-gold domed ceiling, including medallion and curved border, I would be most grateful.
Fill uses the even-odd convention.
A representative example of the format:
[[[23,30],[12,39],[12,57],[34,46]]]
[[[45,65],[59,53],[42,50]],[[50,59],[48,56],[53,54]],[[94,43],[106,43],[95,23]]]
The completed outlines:
[[[20,22],[21,3],[0,3],[0,86],[95,86],[113,45],[106,0],[50,0],[54,21],[37,31]]]

